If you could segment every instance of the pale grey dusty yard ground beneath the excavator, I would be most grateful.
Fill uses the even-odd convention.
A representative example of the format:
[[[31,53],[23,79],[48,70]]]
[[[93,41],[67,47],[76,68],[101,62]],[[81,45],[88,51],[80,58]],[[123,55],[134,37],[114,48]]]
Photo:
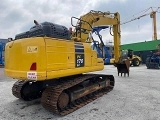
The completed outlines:
[[[0,120],[160,120],[160,70],[131,67],[119,77],[114,66],[100,72],[115,77],[115,88],[77,111],[61,117],[45,110],[40,99],[26,102],[11,93],[15,80],[0,68]]]

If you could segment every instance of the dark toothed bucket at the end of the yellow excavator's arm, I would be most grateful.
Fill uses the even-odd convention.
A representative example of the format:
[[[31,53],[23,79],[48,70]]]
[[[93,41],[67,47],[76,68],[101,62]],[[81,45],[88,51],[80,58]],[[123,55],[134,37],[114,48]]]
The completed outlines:
[[[118,71],[118,76],[119,74],[124,73],[124,76],[126,76],[126,74],[128,74],[129,76],[129,67],[130,67],[130,61],[128,59],[122,61],[122,62],[118,62],[116,63],[116,67],[117,67],[117,71]]]

